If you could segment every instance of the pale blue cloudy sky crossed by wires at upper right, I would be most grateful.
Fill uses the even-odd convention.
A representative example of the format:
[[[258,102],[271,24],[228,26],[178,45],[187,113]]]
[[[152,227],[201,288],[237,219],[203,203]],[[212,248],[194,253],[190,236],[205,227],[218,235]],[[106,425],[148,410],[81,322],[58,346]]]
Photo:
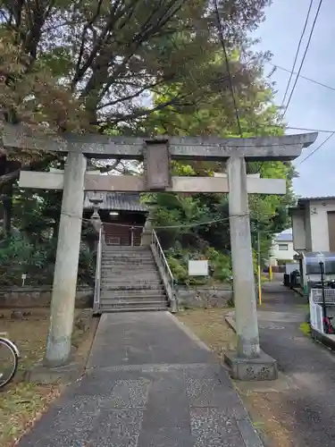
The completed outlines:
[[[309,3],[309,0],[273,0],[272,5],[267,8],[266,20],[255,31],[253,37],[261,38],[257,49],[272,52],[272,63],[292,69]],[[297,69],[305,51],[318,4],[319,0],[314,0],[305,38],[297,59]],[[323,0],[300,74],[335,89],[334,17],[335,0]],[[267,72],[271,70],[272,66],[268,65]],[[276,102],[281,105],[289,81],[289,73],[277,69],[272,80],[276,82]],[[293,77],[294,80],[295,77]],[[293,82],[290,85],[292,87]],[[335,91],[299,78],[285,119],[292,127],[335,131],[334,109]],[[300,131],[288,131],[288,133],[300,133]],[[329,135],[329,133],[320,132],[314,145],[305,148],[303,155],[294,162],[299,173],[299,178],[294,181],[294,190],[298,196],[335,196],[335,135],[306,162],[299,164]]]

